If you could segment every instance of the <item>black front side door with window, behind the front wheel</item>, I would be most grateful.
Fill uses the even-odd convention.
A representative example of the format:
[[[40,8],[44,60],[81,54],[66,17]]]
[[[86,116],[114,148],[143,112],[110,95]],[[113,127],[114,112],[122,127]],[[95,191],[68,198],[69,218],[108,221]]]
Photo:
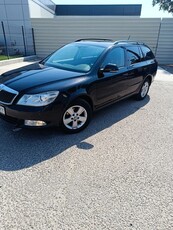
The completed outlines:
[[[101,68],[104,69],[109,64],[116,65],[118,70],[116,72],[104,72],[102,76],[98,75],[96,86],[97,106],[111,103],[111,101],[123,97],[128,86],[128,68],[124,48],[116,47],[110,50],[101,64]]]

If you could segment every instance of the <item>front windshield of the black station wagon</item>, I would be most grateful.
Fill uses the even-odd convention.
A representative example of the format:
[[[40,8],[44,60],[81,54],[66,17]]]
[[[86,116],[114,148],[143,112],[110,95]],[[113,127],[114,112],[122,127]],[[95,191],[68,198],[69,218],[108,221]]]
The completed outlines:
[[[69,44],[53,53],[44,64],[65,70],[88,72],[104,50],[105,47],[101,46]]]

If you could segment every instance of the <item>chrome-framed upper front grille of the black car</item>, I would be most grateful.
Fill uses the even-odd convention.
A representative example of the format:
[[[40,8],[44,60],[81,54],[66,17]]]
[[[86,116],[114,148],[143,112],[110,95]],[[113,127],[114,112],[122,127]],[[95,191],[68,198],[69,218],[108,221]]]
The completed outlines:
[[[10,105],[19,93],[3,84],[0,85],[0,102]]]

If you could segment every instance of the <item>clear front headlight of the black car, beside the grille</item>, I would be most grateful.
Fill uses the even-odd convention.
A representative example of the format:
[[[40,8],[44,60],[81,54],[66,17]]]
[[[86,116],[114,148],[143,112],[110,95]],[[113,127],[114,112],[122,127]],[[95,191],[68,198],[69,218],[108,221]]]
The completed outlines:
[[[18,101],[18,105],[45,106],[52,103],[58,96],[59,91],[51,91],[39,94],[25,94]]]

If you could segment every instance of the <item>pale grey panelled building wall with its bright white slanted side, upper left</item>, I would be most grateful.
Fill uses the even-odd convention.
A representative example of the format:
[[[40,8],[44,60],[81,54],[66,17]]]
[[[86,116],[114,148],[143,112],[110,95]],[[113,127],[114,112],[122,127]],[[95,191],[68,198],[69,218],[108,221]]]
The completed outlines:
[[[24,44],[26,44],[27,55],[33,53],[31,17],[53,18],[54,11],[39,0],[0,0],[0,46],[3,47],[3,53],[6,53],[4,51],[6,49],[1,21],[4,25],[10,55],[24,54]]]

